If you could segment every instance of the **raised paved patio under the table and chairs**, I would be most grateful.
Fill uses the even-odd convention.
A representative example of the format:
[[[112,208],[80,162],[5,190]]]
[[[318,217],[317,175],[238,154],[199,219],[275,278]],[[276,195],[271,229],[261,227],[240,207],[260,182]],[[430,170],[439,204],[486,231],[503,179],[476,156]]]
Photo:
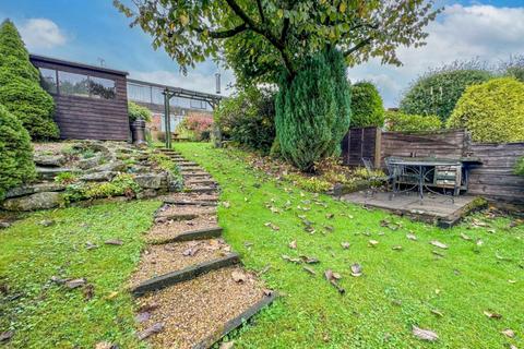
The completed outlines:
[[[452,227],[479,206],[479,197],[474,195],[454,196],[452,202],[451,197],[425,193],[424,201],[420,203],[416,192],[401,193],[390,200],[389,192],[369,195],[366,191],[361,191],[345,194],[341,198],[367,207],[388,209],[417,220],[434,222],[442,228]],[[484,200],[480,198],[480,201],[484,203]]]

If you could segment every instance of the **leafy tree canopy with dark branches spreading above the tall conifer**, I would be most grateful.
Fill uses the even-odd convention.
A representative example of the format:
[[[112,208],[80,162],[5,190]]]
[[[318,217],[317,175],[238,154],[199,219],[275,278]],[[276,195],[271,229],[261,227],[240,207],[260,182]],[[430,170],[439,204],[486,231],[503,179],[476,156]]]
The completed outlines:
[[[327,47],[349,65],[371,57],[401,64],[396,48],[424,45],[424,27],[440,11],[433,0],[131,1],[114,2],[183,72],[224,53],[237,77],[251,82],[276,82],[283,68],[293,77],[302,58]]]

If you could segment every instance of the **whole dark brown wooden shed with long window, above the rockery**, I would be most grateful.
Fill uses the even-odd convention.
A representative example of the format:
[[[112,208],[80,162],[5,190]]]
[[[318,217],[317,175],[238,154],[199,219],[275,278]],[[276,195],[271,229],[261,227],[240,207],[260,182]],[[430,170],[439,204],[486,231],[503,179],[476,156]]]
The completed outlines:
[[[127,72],[32,55],[62,139],[130,139]]]

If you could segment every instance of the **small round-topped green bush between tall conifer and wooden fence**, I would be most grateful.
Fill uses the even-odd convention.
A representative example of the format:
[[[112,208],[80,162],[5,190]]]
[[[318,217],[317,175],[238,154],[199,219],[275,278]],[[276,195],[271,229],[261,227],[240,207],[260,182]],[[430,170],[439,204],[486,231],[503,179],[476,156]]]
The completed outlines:
[[[377,87],[370,82],[353,85],[352,128],[382,127],[384,106]]]

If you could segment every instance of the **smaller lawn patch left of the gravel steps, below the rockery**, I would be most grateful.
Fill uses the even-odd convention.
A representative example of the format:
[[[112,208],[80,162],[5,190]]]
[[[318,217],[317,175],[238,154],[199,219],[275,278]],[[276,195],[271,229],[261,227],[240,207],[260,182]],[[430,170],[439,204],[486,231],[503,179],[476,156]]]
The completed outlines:
[[[144,201],[38,212],[0,230],[0,334],[14,332],[3,347],[94,348],[100,341],[140,347],[126,287],[144,244],[142,233],[159,205]],[[45,227],[43,220],[55,224]],[[123,243],[105,244],[109,239]],[[53,276],[85,278],[90,286],[70,290]]]

